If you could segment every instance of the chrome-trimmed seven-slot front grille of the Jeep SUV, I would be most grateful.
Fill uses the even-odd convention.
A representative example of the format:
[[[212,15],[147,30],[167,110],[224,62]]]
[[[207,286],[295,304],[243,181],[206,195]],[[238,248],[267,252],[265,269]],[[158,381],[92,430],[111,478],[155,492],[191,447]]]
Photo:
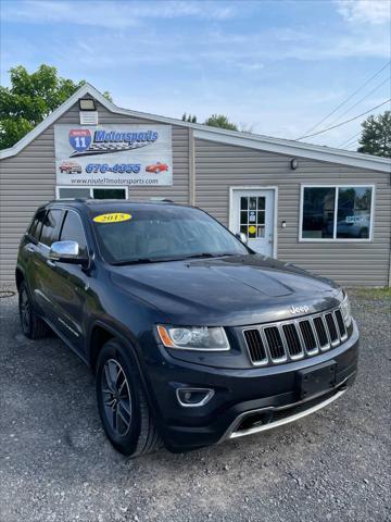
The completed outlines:
[[[253,364],[276,364],[315,356],[346,340],[339,308],[294,321],[263,324],[243,330]]]

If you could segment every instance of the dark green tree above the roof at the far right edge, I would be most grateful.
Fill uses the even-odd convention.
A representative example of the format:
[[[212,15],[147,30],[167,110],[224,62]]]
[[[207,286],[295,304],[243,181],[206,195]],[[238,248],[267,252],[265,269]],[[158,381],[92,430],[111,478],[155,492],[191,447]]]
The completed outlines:
[[[362,127],[357,152],[391,158],[391,111],[368,116]]]

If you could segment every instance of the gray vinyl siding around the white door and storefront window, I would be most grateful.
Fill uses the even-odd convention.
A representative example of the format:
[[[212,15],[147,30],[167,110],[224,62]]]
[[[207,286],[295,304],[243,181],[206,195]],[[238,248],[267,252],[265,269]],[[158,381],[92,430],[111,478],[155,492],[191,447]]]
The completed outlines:
[[[278,187],[278,259],[295,263],[344,286],[388,285],[391,189],[390,175],[339,164],[195,139],[195,204],[228,226],[229,187]],[[373,243],[299,243],[301,184],[374,184]],[[287,227],[280,223],[286,220]]]

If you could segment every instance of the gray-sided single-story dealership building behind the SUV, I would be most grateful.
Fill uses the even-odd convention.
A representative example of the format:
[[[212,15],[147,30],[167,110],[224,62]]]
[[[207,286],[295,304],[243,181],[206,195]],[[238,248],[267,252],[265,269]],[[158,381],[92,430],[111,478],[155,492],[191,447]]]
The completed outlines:
[[[389,286],[391,162],[121,109],[85,85],[0,152],[0,285],[38,206],[62,198],[200,207],[254,250],[344,286]]]

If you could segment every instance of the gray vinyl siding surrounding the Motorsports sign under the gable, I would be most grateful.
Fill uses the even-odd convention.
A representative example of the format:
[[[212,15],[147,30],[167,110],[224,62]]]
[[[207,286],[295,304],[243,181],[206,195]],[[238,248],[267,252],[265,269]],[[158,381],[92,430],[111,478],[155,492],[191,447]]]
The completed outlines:
[[[141,123],[114,114],[98,104],[99,124]],[[64,113],[56,123],[79,124],[78,105]],[[159,123],[159,122],[155,122]],[[172,187],[129,187],[129,199],[166,197],[189,202],[189,130],[174,125]],[[13,285],[18,243],[40,204],[55,198],[54,126],[51,125],[18,154],[0,161],[0,284]]]

